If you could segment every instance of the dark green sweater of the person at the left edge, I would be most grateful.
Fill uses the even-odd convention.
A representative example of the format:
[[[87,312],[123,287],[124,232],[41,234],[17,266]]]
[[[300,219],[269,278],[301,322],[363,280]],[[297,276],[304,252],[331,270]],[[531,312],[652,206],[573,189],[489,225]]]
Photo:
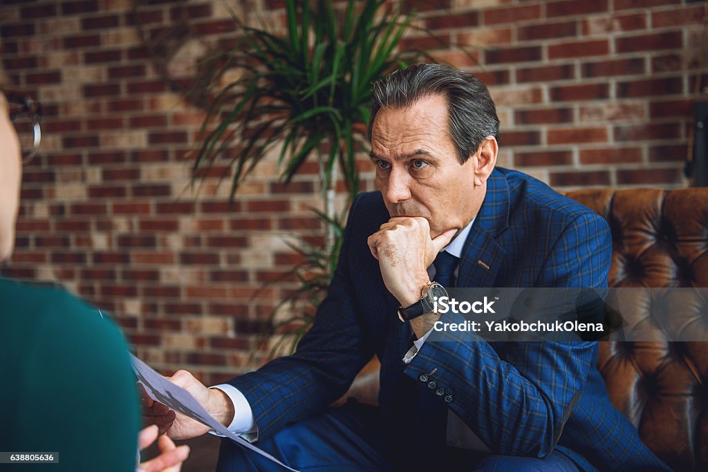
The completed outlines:
[[[0,281],[4,451],[53,470],[135,471],[139,410],[120,331],[59,289]]]

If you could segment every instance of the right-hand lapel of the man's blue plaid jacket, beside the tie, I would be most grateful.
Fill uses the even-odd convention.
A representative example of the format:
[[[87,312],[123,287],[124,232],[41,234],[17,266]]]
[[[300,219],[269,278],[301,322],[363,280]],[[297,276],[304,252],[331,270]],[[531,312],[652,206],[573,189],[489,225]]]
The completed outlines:
[[[487,192],[469,230],[457,271],[457,287],[491,287],[506,251],[494,238],[506,229],[509,185],[496,169],[487,179]]]

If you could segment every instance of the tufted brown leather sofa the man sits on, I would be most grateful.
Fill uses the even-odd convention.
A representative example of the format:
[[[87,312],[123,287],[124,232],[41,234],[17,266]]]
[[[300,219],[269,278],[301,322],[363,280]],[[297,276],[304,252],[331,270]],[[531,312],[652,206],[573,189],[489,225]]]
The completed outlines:
[[[612,229],[610,287],[708,287],[708,188],[588,189],[567,195]],[[708,301],[691,323],[708,339]],[[603,342],[598,368],[612,403],[677,471],[708,471],[708,343]],[[376,359],[346,397],[377,403]]]

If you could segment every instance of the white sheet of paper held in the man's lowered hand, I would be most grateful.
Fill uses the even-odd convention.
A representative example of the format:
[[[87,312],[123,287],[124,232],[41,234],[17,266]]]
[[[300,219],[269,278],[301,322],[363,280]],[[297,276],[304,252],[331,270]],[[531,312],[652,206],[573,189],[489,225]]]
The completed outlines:
[[[132,368],[135,375],[137,375],[137,378],[145,387],[145,391],[147,391],[147,394],[153,400],[164,403],[172,410],[183,413],[189,418],[193,418],[203,425],[207,425],[212,428],[212,430],[215,430],[215,432],[223,434],[232,441],[236,442],[236,444],[241,444],[243,447],[256,451],[258,454],[261,454],[261,456],[287,468],[289,471],[298,472],[294,468],[290,468],[285,464],[282,464],[282,462],[278,461],[278,459],[275,459],[275,457],[271,456],[262,449],[253,446],[250,442],[227,430],[224,425],[215,420],[212,415],[207,413],[207,410],[205,410],[202,405],[200,405],[198,401],[196,401],[195,398],[184,388],[176,386],[171,381],[165,379],[164,376],[161,376],[158,372],[155,372],[152,367],[145,364],[142,360],[132,354],[130,354],[130,360],[132,362]]]

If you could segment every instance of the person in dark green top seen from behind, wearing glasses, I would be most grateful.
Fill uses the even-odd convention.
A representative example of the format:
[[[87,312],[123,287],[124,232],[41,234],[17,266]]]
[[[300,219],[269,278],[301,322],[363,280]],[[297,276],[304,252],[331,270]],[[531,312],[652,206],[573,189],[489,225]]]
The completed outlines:
[[[0,264],[13,250],[28,158],[11,120],[17,110],[30,120],[39,111],[31,100],[3,93],[2,79],[0,71]],[[19,108],[11,110],[6,95]],[[161,454],[137,464],[138,448],[158,434],[155,426],[139,432],[125,340],[100,311],[63,289],[0,278],[0,379],[0,461],[11,461],[2,453],[58,459],[42,466],[0,464],[1,470],[174,472],[189,454],[187,446],[162,436]]]

